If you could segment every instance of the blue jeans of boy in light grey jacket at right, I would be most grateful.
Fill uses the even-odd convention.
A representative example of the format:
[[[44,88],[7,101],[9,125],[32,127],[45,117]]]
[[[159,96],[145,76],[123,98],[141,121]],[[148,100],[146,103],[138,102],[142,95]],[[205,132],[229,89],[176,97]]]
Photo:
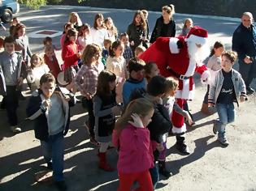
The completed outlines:
[[[219,138],[225,136],[225,127],[228,123],[235,121],[235,107],[234,104],[216,104],[217,112],[219,115],[218,135]]]

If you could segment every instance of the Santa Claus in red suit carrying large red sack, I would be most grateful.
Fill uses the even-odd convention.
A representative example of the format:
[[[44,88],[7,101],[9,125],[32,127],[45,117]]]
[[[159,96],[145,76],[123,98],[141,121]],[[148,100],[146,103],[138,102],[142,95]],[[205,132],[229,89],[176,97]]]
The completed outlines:
[[[177,104],[183,108],[185,100],[193,99],[193,74],[197,71],[201,75],[202,83],[207,83],[210,72],[202,61],[209,55],[206,43],[208,32],[200,27],[191,28],[187,37],[158,37],[140,58],[145,62],[155,62],[160,74],[179,79],[179,89],[176,92]],[[188,147],[184,143],[186,125],[184,117],[173,111],[171,116],[172,132],[176,134],[177,149],[188,154]]]

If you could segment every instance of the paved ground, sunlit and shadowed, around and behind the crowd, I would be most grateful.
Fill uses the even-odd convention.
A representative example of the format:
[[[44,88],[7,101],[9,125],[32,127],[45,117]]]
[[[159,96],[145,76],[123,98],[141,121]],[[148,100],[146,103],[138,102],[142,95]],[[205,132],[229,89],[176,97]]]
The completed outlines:
[[[39,11],[31,11],[21,7],[18,16],[27,26],[27,33],[30,36],[33,32],[40,30],[62,31],[63,23],[67,21],[68,13],[72,11],[78,12],[82,21],[91,25],[94,15],[98,12],[103,13],[105,17],[111,16],[119,32],[125,32],[128,24],[132,21],[134,13],[134,11],[128,10],[91,7],[45,6]],[[151,31],[159,15],[159,12],[150,12],[149,23]],[[182,21],[186,17],[187,15],[175,15],[179,30],[182,26]],[[239,23],[237,19],[198,18],[192,15],[191,17],[195,25],[206,28],[209,31],[211,45],[213,45],[215,40],[223,40],[226,47],[228,49],[230,48],[232,32]],[[7,32],[0,31],[0,35],[5,34]],[[42,50],[42,38],[30,37],[29,40],[33,53]],[[59,45],[59,36],[54,37],[53,40],[55,45]],[[205,117],[200,112],[197,112],[202,103],[202,97],[205,91],[205,87],[200,87],[200,84],[197,83],[197,98],[190,104],[195,120],[197,121],[197,126],[189,130],[187,139],[189,146],[193,150],[193,154],[188,157],[177,155],[173,148],[174,138],[168,140],[168,146],[171,147],[169,154],[171,153],[172,155],[167,158],[167,167],[171,168],[175,176],[169,180],[162,180],[158,185],[158,190],[225,190],[227,188],[227,190],[248,190],[255,188],[254,177],[256,176],[256,165],[255,162],[251,161],[254,160],[254,149],[252,149],[252,146],[249,147],[249,150],[253,151],[246,154],[248,155],[246,159],[238,160],[242,164],[236,163],[236,161],[234,162],[232,160],[232,156],[230,156],[236,150],[236,147],[230,146],[225,152],[215,142],[215,138],[212,139],[211,120],[216,115]],[[29,96],[29,92],[24,91],[24,95]],[[24,108],[26,107],[27,100],[20,102],[20,108],[18,110],[20,126],[24,129],[22,134],[16,134],[14,136],[8,129],[6,113],[0,112],[0,190],[54,190],[53,185],[50,184],[34,184],[34,173],[45,170],[46,168],[44,168],[45,164],[41,157],[39,142],[33,137],[33,127],[29,121],[23,121],[25,117]],[[255,105],[255,102],[251,102],[250,104]],[[254,113],[254,110],[249,111],[245,116],[248,117],[248,120],[253,120]],[[115,190],[118,185],[117,172],[102,172],[97,168],[97,151],[89,143],[88,135],[82,126],[84,120],[85,113],[83,108],[80,104],[77,104],[72,109],[71,131],[65,139],[65,176],[67,177],[67,184],[70,190]],[[238,121],[236,125],[245,125],[245,123]],[[250,124],[249,126],[254,127],[255,124]],[[249,133],[255,134],[255,131],[252,130]],[[248,139],[243,137],[244,139],[241,140],[237,134],[245,134],[241,130],[235,130],[232,133],[232,138],[235,138],[235,141],[233,141],[236,142],[236,146],[238,147],[241,145],[241,142],[246,142]],[[251,145],[255,146],[255,141],[252,141]],[[243,146],[246,146],[246,144],[243,144]],[[244,155],[242,150],[238,149],[237,152],[236,156]],[[114,165],[117,160],[115,151],[111,151],[109,158]],[[212,163],[212,161],[216,162],[217,160],[222,160],[223,163]],[[244,163],[249,164],[244,167]],[[209,167],[209,165],[211,166]],[[233,165],[236,165],[236,167]],[[247,174],[248,167],[252,167],[252,172]],[[232,171],[233,168],[235,169]],[[245,170],[246,172],[236,173],[236,171],[245,168],[247,168]],[[235,174],[234,176],[232,176],[232,172]],[[248,177],[246,180],[240,178],[240,175],[244,174]],[[226,179],[227,185],[225,182]],[[237,187],[234,185],[235,183]],[[225,186],[223,185],[227,186],[227,188],[224,188]]]

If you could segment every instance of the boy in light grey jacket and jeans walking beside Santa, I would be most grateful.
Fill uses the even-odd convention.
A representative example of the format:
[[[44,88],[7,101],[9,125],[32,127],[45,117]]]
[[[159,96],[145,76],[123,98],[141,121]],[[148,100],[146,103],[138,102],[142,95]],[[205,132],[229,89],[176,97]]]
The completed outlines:
[[[228,139],[225,134],[226,125],[235,120],[235,108],[233,102],[245,101],[245,82],[232,66],[236,62],[237,54],[233,51],[222,53],[221,70],[215,76],[214,82],[210,85],[209,106],[216,105],[219,120],[213,126],[214,134],[218,134],[218,141],[223,146],[228,146]]]

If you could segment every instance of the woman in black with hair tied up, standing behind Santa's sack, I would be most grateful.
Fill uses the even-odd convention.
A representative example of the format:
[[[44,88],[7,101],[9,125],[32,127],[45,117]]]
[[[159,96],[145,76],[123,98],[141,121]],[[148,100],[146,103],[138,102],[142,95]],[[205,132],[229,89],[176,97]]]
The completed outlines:
[[[162,37],[175,37],[176,35],[176,23],[172,17],[175,13],[174,5],[168,5],[162,7],[162,16],[159,17],[154,26],[150,43],[154,43],[159,36]]]

